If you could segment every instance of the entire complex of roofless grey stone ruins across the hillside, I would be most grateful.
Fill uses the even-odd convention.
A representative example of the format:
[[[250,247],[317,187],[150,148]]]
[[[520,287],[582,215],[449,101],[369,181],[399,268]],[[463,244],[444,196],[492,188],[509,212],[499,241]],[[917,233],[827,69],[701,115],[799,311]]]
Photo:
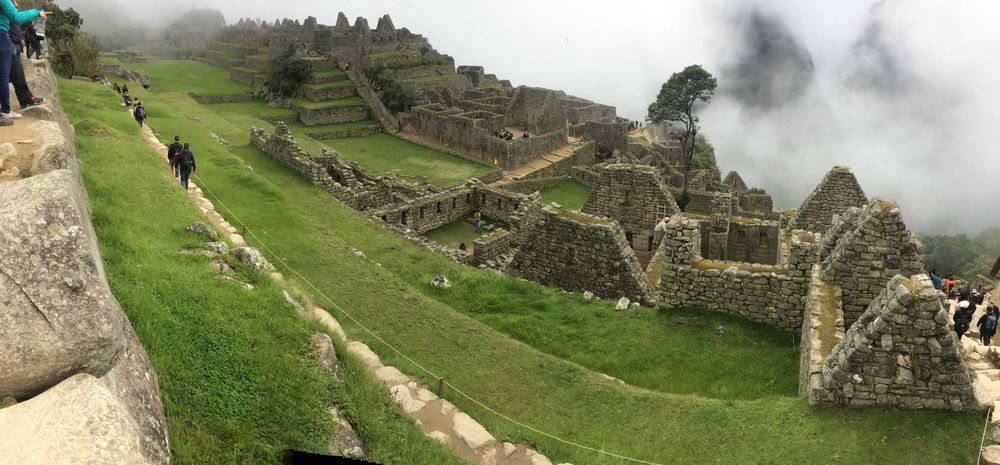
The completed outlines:
[[[683,150],[665,128],[647,128],[651,144],[633,142],[614,107],[514,87],[480,66],[456,67],[388,16],[375,29],[363,18],[352,26],[343,14],[332,27],[314,18],[242,20],[205,59],[254,82],[266,66],[261,54],[293,39],[314,70],[346,70],[353,84],[310,90],[310,100],[365,101],[351,110],[356,115],[300,108],[305,124],[371,116],[412,142],[500,168],[446,188],[412,184],[366,173],[333,151],[305,153],[283,124],[274,134],[252,131],[253,145],[373,221],[470,266],[800,333],[801,391],[813,403],[980,408],[959,379],[963,362],[947,322],[917,276],[919,242],[899,208],[869,200],[850,169],[834,167],[799,209],[779,211],[736,172],[685,173]],[[417,104],[388,113],[372,90],[373,73],[409,86]],[[497,137],[504,131],[512,140]],[[565,179],[592,189],[580,212],[541,201],[538,191]],[[681,211],[675,196],[685,180],[690,202]],[[506,226],[475,239],[471,253],[422,237],[473,212]]]

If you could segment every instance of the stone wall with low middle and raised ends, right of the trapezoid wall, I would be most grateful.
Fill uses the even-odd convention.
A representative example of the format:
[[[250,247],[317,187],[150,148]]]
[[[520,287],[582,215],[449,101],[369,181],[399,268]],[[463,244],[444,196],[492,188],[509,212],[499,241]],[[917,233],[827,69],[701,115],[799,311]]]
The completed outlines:
[[[700,307],[800,330],[816,244],[793,239],[788,262],[774,267],[705,260],[700,244],[697,220],[675,216],[666,223],[660,307]]]

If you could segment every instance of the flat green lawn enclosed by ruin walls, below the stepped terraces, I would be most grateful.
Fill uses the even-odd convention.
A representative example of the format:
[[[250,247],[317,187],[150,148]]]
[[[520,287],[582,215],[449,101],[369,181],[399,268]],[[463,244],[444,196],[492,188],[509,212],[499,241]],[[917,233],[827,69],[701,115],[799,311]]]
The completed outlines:
[[[481,176],[493,167],[421,147],[388,134],[323,141],[373,173],[390,172],[405,179],[427,176],[431,183],[449,186]]]

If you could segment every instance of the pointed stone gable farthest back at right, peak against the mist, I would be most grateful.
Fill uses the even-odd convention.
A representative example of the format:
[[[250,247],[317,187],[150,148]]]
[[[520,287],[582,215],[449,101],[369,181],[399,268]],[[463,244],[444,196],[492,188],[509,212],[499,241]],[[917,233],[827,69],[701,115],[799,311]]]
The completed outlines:
[[[833,224],[835,215],[866,202],[865,192],[851,169],[835,166],[802,202],[791,225],[795,229],[824,233]]]

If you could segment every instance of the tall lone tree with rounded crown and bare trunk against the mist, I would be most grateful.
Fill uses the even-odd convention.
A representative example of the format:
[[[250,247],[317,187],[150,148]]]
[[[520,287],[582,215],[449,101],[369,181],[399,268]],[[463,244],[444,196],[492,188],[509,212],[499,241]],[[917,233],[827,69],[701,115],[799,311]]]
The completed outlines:
[[[684,189],[687,189],[688,172],[694,157],[698,136],[698,117],[695,104],[708,103],[715,94],[716,79],[701,65],[691,65],[674,73],[660,88],[656,101],[649,105],[646,119],[654,124],[681,125],[681,147],[684,149]]]

